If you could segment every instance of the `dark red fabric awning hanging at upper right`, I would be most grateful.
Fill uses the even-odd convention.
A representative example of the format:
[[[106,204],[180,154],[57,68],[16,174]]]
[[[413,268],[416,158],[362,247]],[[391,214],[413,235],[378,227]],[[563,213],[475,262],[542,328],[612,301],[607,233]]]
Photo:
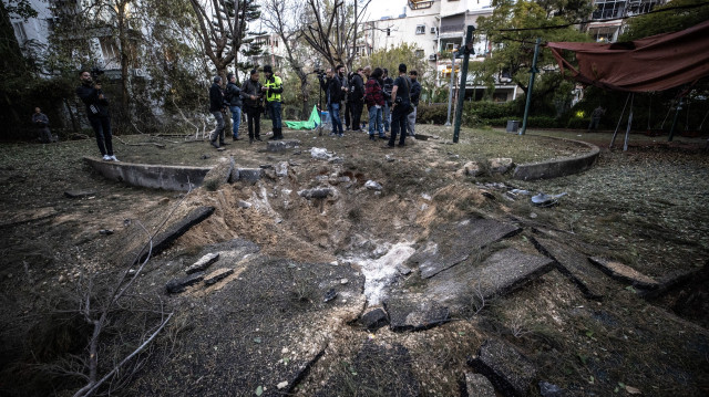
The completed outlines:
[[[626,92],[651,92],[692,83],[709,75],[709,21],[696,27],[613,44],[549,42],[562,72],[586,85]],[[576,53],[578,69],[561,55]]]

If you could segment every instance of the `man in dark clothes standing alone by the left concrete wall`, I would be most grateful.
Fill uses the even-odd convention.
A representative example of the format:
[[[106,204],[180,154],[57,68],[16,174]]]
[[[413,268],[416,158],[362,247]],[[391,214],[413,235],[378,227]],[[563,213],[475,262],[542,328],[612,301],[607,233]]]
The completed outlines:
[[[81,85],[76,87],[76,96],[86,105],[89,123],[96,135],[99,152],[105,161],[117,161],[113,154],[113,136],[111,135],[111,114],[109,100],[103,95],[101,82],[93,82],[91,72],[81,71]]]

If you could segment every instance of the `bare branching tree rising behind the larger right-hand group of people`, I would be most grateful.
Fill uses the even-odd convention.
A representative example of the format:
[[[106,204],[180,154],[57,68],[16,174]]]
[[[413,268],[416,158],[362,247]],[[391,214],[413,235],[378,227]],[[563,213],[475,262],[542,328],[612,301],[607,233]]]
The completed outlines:
[[[308,0],[301,33],[308,44],[335,66],[352,70],[357,55],[358,27],[371,0]]]

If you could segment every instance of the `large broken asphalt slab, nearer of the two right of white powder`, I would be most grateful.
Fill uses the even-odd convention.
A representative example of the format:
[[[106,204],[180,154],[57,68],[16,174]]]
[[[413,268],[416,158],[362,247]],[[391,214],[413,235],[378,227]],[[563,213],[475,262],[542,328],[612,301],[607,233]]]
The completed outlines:
[[[429,280],[424,295],[458,315],[471,302],[506,295],[553,269],[549,258],[507,248],[480,264],[461,263],[436,274]]]

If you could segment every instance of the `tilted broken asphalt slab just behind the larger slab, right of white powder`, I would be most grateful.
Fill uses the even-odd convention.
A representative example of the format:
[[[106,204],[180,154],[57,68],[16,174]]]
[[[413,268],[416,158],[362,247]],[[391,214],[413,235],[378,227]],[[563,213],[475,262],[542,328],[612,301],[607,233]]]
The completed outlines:
[[[463,262],[481,248],[512,237],[522,229],[493,219],[473,218],[452,224],[442,224],[429,237],[411,261],[419,263],[421,278],[435,274]]]

